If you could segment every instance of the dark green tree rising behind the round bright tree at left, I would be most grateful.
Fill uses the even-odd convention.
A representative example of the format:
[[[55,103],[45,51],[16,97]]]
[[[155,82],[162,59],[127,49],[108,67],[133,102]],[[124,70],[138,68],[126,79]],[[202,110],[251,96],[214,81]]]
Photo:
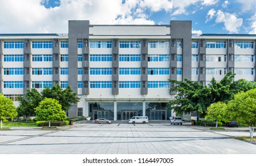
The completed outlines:
[[[54,98],[59,101],[59,104],[62,106],[62,110],[69,110],[72,104],[77,103],[80,98],[77,97],[77,94],[72,92],[71,87],[68,86],[64,90],[58,85],[53,84],[52,88],[45,87],[41,92],[42,98]]]

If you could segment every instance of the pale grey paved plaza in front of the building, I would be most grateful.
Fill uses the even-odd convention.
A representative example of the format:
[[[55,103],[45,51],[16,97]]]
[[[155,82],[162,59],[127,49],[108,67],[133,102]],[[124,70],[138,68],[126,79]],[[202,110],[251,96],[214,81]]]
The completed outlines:
[[[207,129],[169,123],[16,127],[0,130],[0,154],[256,154],[255,144],[232,137],[248,136],[248,128]]]

